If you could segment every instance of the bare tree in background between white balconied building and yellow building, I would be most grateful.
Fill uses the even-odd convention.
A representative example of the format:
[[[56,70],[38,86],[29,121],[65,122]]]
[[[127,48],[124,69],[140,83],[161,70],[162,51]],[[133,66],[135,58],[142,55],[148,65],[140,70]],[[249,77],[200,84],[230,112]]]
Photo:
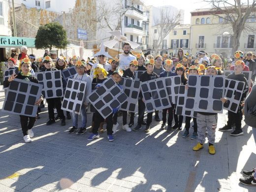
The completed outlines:
[[[173,14],[168,9],[160,9],[160,16],[154,18],[155,26],[153,26],[153,28],[157,30],[156,35],[153,36],[153,46],[156,53],[158,52],[163,39],[172,29],[179,25],[179,22],[180,13]]]

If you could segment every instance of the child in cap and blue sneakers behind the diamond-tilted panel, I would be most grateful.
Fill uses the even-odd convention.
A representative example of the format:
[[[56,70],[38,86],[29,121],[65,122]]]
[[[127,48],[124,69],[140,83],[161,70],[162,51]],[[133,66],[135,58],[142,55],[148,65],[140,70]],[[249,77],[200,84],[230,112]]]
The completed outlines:
[[[112,73],[112,78],[113,80],[118,84],[123,76],[123,71],[122,70],[116,70]],[[118,111],[118,109],[114,108],[113,113],[111,113],[107,118],[106,118],[106,123],[107,123],[107,138],[109,141],[114,141],[113,137],[113,114],[115,114]],[[93,140],[96,137],[99,137],[98,134],[98,128],[100,126],[100,122],[104,122],[104,118],[99,114],[99,112],[96,110],[95,112],[95,121],[94,122],[94,128],[93,128],[93,133],[88,137],[87,140]]]

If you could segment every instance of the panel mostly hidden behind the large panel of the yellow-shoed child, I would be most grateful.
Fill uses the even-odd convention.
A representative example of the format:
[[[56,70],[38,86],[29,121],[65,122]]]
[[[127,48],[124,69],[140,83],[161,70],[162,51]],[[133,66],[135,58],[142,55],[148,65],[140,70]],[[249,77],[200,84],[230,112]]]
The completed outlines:
[[[177,102],[176,102],[175,114],[189,116],[189,117],[196,117],[197,113],[194,110],[188,110],[188,109],[184,108],[184,104],[186,101],[185,97],[187,95],[187,91],[188,90],[185,89],[185,85],[180,85],[179,96],[178,96]]]

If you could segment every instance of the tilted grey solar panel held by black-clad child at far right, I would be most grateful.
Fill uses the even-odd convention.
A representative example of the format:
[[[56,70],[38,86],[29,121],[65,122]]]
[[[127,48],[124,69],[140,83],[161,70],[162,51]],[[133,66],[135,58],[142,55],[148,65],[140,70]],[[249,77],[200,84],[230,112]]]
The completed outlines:
[[[243,95],[245,82],[236,81],[233,79],[225,80],[225,94],[227,102],[224,103],[224,108],[234,113],[237,112]]]

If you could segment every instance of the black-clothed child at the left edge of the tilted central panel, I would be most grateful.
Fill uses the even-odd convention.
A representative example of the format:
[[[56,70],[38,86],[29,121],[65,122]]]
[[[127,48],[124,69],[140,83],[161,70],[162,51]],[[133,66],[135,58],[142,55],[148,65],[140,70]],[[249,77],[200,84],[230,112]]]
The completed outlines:
[[[154,64],[155,64],[155,62],[154,62],[153,59],[146,62],[146,69],[147,70],[144,73],[141,74],[141,76],[140,76],[140,81],[141,82],[150,81],[152,79],[157,79],[158,78],[157,73],[153,72]],[[143,101],[142,93],[140,92],[139,99],[138,99],[138,115],[139,115],[138,116],[138,125],[133,129],[134,131],[141,129],[145,109],[146,109],[146,106],[145,106],[145,103]],[[152,115],[153,115],[153,112],[150,112],[150,113],[147,114],[147,122],[146,122],[145,132],[149,132],[149,130],[150,130],[150,124],[152,122]]]

